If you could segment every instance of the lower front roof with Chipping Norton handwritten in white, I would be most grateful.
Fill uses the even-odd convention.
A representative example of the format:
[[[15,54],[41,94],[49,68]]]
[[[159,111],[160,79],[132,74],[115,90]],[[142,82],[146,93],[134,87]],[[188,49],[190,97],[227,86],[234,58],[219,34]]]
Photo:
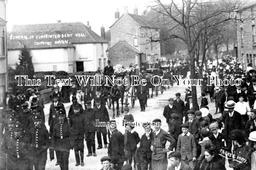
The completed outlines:
[[[74,47],[59,31],[8,32],[7,49],[67,48]]]

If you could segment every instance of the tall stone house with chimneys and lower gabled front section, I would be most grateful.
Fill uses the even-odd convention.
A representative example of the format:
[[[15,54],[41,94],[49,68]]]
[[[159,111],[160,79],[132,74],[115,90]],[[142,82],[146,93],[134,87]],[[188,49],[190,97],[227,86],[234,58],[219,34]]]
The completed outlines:
[[[160,43],[157,42],[159,30],[147,12],[138,15],[135,7],[134,14],[131,14],[128,13],[128,7],[124,7],[124,14],[119,16],[117,9],[115,23],[110,27],[111,48],[108,58],[111,63],[128,67],[131,63],[140,66],[142,62],[160,59]],[[156,42],[151,42],[151,39]]]

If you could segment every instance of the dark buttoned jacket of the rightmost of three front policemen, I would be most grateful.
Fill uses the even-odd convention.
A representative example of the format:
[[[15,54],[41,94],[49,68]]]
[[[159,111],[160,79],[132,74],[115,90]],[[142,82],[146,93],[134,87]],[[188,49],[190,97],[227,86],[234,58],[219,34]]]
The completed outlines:
[[[55,124],[52,134],[54,150],[69,151],[71,146],[74,146],[71,135],[72,129],[67,121]]]

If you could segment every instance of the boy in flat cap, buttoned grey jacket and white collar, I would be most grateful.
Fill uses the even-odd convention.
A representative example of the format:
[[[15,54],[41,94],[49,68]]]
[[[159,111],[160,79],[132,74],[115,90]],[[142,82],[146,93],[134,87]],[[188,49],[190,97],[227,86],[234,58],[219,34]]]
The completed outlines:
[[[182,134],[178,137],[176,151],[181,154],[181,162],[188,164],[191,169],[195,168],[196,161],[196,143],[194,136],[189,132],[189,124],[183,123],[181,125]],[[187,163],[188,162],[188,163]]]

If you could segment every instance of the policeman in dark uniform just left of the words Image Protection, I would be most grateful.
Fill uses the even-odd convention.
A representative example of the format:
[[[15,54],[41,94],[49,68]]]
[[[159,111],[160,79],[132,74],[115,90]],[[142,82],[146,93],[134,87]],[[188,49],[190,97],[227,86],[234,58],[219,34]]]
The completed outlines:
[[[84,110],[85,116],[85,139],[88,149],[87,157],[97,156],[95,152],[95,131],[96,131],[96,110],[91,108],[91,101],[86,102],[87,109]]]

